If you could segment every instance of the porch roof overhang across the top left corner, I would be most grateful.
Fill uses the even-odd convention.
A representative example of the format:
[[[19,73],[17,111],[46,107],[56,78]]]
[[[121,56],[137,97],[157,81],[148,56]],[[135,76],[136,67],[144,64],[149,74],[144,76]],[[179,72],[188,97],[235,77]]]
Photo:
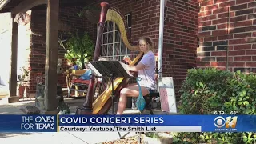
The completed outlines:
[[[30,10],[46,10],[48,0],[0,0],[0,13],[16,12],[23,7],[34,5]],[[86,6],[94,0],[59,0],[59,6]],[[39,5],[37,5],[39,3]],[[19,12],[19,11],[18,11]]]

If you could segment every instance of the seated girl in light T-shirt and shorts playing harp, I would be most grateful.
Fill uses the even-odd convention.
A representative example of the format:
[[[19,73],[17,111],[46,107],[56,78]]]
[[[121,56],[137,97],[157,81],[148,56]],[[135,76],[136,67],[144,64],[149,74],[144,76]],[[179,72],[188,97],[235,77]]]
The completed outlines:
[[[145,96],[156,90],[156,82],[154,80],[156,64],[152,40],[149,37],[143,37],[140,38],[138,42],[138,46],[144,55],[136,66],[128,66],[128,70],[138,72],[138,77],[141,78],[139,84],[142,88],[142,95]],[[124,57],[123,59],[130,64],[131,60],[129,57]],[[138,97],[138,95],[139,89],[136,83],[122,88],[120,91],[117,114],[122,114],[125,110],[127,97]]]

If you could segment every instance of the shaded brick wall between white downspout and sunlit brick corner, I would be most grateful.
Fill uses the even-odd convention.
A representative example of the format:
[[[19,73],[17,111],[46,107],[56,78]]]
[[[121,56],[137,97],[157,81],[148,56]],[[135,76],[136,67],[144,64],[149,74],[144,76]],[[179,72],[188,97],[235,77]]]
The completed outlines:
[[[187,70],[196,67],[198,12],[197,0],[166,1],[162,76],[174,77],[177,95]]]

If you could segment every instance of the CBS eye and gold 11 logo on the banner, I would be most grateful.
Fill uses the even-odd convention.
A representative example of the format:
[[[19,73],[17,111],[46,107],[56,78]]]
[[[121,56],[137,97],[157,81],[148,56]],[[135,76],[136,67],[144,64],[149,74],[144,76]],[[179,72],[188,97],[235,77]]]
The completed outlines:
[[[222,128],[223,126],[225,126],[226,129],[228,128],[232,128],[234,129],[235,126],[237,125],[237,120],[238,120],[238,117],[235,116],[235,117],[226,117],[226,118],[223,118],[222,116],[218,116],[214,119],[214,125],[218,128]]]

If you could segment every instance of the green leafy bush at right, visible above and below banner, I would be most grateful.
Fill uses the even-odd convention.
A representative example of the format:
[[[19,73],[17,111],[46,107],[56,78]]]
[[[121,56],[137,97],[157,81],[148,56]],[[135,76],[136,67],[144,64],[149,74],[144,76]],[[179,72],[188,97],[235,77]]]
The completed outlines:
[[[213,68],[192,69],[180,90],[181,114],[256,114],[256,76]],[[174,143],[254,143],[256,133],[178,133]]]

